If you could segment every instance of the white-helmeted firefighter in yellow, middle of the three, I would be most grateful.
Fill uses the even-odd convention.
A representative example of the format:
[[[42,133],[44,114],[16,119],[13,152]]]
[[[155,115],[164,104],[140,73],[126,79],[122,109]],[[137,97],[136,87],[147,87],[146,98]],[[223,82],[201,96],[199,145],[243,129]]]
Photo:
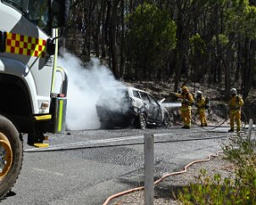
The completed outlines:
[[[203,97],[202,91],[196,91],[195,105],[198,108],[198,114],[199,114],[199,119],[201,123],[200,126],[201,127],[207,126],[207,120],[205,117],[206,102],[205,102],[205,98]]]

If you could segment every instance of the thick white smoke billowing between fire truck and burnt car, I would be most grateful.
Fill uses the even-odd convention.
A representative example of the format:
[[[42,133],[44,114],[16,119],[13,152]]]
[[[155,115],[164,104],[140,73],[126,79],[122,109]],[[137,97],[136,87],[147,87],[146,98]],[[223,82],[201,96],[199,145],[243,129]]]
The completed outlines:
[[[83,67],[81,60],[70,53],[58,57],[58,64],[68,71],[68,102],[66,125],[69,130],[91,130],[100,127],[97,118],[96,102],[99,94],[106,88],[123,86],[115,80],[109,68],[92,58]]]

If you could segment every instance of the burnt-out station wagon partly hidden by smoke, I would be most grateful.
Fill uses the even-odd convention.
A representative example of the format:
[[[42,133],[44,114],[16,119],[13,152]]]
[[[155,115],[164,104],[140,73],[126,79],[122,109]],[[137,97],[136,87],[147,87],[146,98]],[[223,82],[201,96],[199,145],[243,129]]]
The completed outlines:
[[[97,100],[101,128],[133,125],[145,129],[150,125],[170,125],[170,114],[151,94],[134,87],[103,91]]]

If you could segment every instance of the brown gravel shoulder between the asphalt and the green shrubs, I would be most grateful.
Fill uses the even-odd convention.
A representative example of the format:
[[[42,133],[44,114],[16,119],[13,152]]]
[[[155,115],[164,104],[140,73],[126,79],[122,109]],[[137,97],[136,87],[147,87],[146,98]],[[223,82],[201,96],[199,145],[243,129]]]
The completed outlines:
[[[180,175],[170,175],[160,181],[154,188],[154,204],[155,205],[176,205],[181,204],[173,197],[172,193],[181,190],[182,187],[195,183],[200,171],[206,170],[206,175],[214,176],[220,174],[222,179],[226,177],[235,177],[235,165],[220,153],[217,157],[212,157],[205,162],[193,163],[188,166],[186,172]],[[144,191],[133,191],[129,194],[115,197],[109,204],[144,204]]]

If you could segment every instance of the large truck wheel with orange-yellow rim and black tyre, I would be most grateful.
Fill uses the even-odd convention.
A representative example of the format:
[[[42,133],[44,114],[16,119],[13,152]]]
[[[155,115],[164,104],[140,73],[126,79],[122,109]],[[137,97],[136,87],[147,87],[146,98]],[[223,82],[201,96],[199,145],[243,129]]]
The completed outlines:
[[[0,115],[0,199],[14,186],[23,161],[23,143],[14,124]]]

